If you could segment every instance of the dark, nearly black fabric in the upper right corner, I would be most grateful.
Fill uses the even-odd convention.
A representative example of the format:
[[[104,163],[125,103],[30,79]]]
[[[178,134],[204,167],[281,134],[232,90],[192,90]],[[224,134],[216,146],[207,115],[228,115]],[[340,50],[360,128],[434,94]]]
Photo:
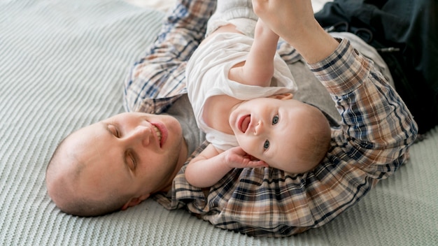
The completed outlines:
[[[355,33],[380,51],[419,133],[438,124],[437,0],[334,0],[315,17],[321,26]]]

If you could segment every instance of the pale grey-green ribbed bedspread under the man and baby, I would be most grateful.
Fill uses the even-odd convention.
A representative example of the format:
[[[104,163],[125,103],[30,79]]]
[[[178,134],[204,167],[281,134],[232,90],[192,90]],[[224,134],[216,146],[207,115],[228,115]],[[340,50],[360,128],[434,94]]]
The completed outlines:
[[[225,231],[152,199],[101,217],[59,211],[48,160],[71,131],[123,111],[122,81],[169,2],[148,3],[0,1],[0,245],[438,245],[438,127],[353,208],[289,238]]]

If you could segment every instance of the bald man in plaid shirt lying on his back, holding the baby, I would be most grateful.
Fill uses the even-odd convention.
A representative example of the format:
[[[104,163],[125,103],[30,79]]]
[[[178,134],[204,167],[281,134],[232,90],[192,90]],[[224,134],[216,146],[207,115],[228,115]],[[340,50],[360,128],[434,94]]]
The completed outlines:
[[[347,39],[327,34],[314,19],[310,1],[253,2],[255,13],[296,48],[281,46],[289,51],[280,50],[283,59],[292,63],[301,54],[342,115],[320,165],[300,175],[274,168],[234,169],[209,189],[198,189],[185,180],[181,163],[192,147],[188,138],[182,140],[178,123],[171,117],[127,113],[73,133],[59,146],[46,179],[59,208],[100,215],[155,194],[165,208],[187,208],[223,229],[290,236],[330,222],[380,179],[393,175],[407,159],[417,128],[379,68]],[[127,110],[174,113],[174,107],[184,103],[185,61],[202,39],[214,7],[214,1],[181,1],[150,55],[127,81]],[[97,143],[103,140],[116,147]],[[109,200],[115,205],[101,210]],[[78,203],[83,209],[73,210]]]

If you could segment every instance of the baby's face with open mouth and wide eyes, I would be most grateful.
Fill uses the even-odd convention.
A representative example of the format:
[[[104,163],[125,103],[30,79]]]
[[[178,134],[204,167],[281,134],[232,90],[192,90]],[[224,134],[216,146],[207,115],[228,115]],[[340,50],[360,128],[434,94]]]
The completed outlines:
[[[297,147],[305,137],[300,132],[312,110],[290,97],[252,99],[232,112],[229,125],[245,152],[267,164],[283,164],[302,149]]]

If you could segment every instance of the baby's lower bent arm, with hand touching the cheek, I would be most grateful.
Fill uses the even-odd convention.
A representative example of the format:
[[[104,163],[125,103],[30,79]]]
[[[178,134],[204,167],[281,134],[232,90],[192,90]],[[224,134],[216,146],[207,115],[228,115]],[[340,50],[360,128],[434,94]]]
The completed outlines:
[[[185,179],[195,187],[211,187],[232,168],[267,166],[264,161],[253,160],[241,147],[233,147],[225,152],[208,145],[185,168]]]

